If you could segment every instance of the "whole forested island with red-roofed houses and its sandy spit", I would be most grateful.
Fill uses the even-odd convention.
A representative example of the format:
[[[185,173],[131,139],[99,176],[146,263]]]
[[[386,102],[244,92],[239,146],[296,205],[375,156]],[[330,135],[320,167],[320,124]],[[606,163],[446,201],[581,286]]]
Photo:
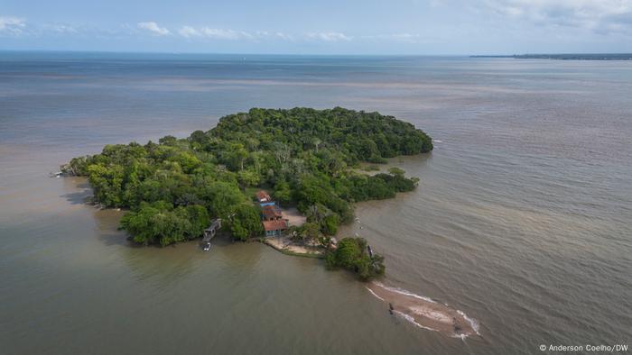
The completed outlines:
[[[369,281],[371,294],[388,304],[385,312],[465,337],[473,332],[464,314],[370,283],[385,275],[384,257],[359,235],[336,237],[339,225],[356,221],[358,202],[417,188],[418,177],[396,167],[383,171],[380,164],[432,148],[432,138],[393,116],[340,107],[251,109],[186,139],[107,145],[61,171],[88,177],[95,204],[124,209],[119,228],[135,244],[166,246],[201,237],[202,249],[210,250],[219,234],[261,241]]]

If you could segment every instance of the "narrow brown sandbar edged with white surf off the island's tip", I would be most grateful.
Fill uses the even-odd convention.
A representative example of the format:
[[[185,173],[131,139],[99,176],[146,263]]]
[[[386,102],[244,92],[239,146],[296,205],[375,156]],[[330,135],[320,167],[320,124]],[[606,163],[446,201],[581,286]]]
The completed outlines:
[[[401,315],[421,328],[458,338],[479,335],[477,321],[458,309],[379,282],[372,282],[367,288],[389,306],[392,314]]]

